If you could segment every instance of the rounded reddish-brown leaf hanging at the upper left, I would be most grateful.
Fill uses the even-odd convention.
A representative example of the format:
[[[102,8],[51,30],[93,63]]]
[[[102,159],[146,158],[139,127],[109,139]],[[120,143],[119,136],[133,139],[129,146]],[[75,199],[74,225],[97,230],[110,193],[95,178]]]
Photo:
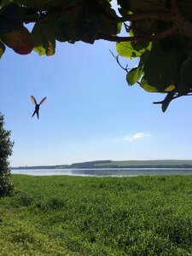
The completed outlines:
[[[32,34],[26,27],[20,27],[9,33],[2,34],[3,43],[14,49],[20,55],[29,54],[34,47]]]

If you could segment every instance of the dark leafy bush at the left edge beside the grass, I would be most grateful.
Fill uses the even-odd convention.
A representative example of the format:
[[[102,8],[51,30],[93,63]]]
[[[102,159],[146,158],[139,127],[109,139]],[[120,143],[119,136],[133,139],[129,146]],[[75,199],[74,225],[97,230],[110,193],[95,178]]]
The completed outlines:
[[[3,128],[4,116],[0,113],[0,197],[10,195],[13,192],[13,184],[10,182],[9,156],[12,154],[14,143],[10,141],[10,131]]]

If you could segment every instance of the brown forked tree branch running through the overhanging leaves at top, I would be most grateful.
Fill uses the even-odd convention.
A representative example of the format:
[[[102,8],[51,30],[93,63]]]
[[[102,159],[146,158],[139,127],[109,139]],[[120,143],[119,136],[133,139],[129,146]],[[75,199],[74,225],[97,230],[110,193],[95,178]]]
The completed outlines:
[[[133,14],[133,15],[125,15],[123,17],[113,17],[109,15],[105,9],[100,9],[101,14],[106,17],[106,19],[111,20],[112,22],[125,22],[125,21],[136,21],[136,20],[164,20],[172,22],[173,25],[171,28],[167,29],[164,32],[160,32],[156,35],[137,35],[134,37],[118,37],[111,36],[99,33],[98,39],[104,39],[112,42],[129,42],[129,41],[154,41],[160,40],[162,38],[166,38],[171,36],[172,34],[179,33],[188,38],[192,38],[192,23],[183,17],[180,13],[177,0],[170,0],[171,10],[165,11],[161,13],[141,13],[141,14]],[[25,18],[24,22],[41,22],[43,20],[50,20],[60,15],[64,15],[67,13],[79,11],[83,8],[83,4],[79,3],[75,6],[68,7],[67,9],[55,9],[53,11],[44,11],[43,13],[38,13],[34,18]]]

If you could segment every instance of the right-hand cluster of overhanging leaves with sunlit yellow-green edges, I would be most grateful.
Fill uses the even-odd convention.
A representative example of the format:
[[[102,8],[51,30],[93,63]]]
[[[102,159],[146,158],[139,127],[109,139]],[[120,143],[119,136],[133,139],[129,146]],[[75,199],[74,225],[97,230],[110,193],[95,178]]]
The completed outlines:
[[[170,1],[173,3],[175,1]],[[121,15],[154,14],[148,15],[146,20],[132,20],[129,31],[131,37],[139,39],[129,42],[119,42],[116,49],[119,55],[128,58],[139,58],[137,67],[126,70],[127,83],[139,84],[148,92],[166,93],[162,102],[162,111],[165,112],[169,103],[179,96],[190,95],[192,91],[192,38],[181,34],[172,22],[172,13],[176,6],[169,1],[125,1],[119,0]],[[192,5],[189,1],[177,1],[182,15],[181,18],[190,18]],[[159,15],[159,16],[158,16]],[[162,16],[165,15],[164,20]],[[176,29],[174,31],[174,29]]]

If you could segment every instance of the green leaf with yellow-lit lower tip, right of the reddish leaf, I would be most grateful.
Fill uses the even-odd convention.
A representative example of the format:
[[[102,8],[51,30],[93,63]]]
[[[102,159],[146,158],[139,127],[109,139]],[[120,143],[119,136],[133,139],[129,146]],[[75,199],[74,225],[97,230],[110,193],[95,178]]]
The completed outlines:
[[[48,22],[36,24],[32,29],[32,35],[35,39],[34,50],[38,52],[38,55],[55,54],[55,34]]]

